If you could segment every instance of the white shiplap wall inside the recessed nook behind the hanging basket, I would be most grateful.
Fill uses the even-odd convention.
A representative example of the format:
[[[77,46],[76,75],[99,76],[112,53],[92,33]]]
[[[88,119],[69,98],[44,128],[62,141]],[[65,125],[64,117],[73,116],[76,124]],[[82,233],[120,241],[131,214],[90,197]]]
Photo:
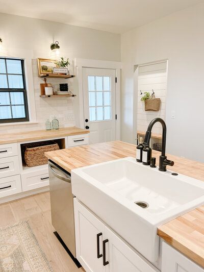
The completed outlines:
[[[159,111],[145,111],[144,102],[141,97],[145,91],[152,93],[154,89],[155,97],[161,99]],[[140,90],[143,94],[140,94]],[[141,65],[138,68],[138,110],[137,110],[137,130],[146,131],[149,122],[157,117],[165,120],[166,111],[166,91],[167,91],[167,62]],[[162,133],[160,123],[156,123],[152,129],[154,133]]]

